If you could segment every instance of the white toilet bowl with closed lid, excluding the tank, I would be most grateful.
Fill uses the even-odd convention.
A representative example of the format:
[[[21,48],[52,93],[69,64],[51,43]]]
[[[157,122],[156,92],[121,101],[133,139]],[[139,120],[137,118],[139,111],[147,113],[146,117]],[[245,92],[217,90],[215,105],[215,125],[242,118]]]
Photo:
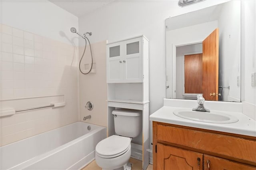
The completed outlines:
[[[129,170],[131,138],[112,135],[96,146],[95,160],[103,170]]]

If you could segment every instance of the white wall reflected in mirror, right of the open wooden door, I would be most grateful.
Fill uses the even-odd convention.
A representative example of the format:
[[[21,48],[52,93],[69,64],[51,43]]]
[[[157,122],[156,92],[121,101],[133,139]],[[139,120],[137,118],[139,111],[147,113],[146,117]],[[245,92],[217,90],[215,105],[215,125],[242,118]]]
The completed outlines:
[[[219,86],[230,86],[230,89],[223,89],[222,101],[239,102],[241,99],[241,85],[237,85],[237,76],[241,75],[240,3],[231,1],[224,4],[218,17]]]

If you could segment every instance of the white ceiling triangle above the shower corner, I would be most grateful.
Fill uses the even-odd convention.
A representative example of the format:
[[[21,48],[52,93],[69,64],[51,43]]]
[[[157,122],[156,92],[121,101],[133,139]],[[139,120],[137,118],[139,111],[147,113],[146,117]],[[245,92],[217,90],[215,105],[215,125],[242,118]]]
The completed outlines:
[[[83,16],[98,8],[113,2],[114,0],[49,0],[60,8],[74,14],[75,16]]]

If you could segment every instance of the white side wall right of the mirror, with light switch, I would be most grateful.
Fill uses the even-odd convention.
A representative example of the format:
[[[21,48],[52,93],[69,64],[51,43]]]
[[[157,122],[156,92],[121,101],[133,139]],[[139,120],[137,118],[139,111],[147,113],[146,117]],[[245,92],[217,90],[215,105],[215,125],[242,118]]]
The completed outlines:
[[[256,88],[251,86],[251,74],[256,72],[256,2],[242,2],[242,101],[243,112],[256,119]]]

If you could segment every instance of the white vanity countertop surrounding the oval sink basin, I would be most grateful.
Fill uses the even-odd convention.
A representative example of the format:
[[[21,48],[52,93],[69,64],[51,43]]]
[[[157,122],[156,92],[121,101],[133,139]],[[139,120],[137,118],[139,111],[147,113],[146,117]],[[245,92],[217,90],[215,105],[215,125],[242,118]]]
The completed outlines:
[[[184,107],[164,106],[150,115],[150,121],[242,134],[247,136],[256,136],[256,121],[244,115],[242,112],[224,111],[224,113],[227,115],[237,117],[238,122],[236,123],[205,123],[178,117],[173,114],[173,111],[177,109],[184,109]],[[185,107],[185,109],[188,108]],[[211,111],[213,112],[213,110]]]

